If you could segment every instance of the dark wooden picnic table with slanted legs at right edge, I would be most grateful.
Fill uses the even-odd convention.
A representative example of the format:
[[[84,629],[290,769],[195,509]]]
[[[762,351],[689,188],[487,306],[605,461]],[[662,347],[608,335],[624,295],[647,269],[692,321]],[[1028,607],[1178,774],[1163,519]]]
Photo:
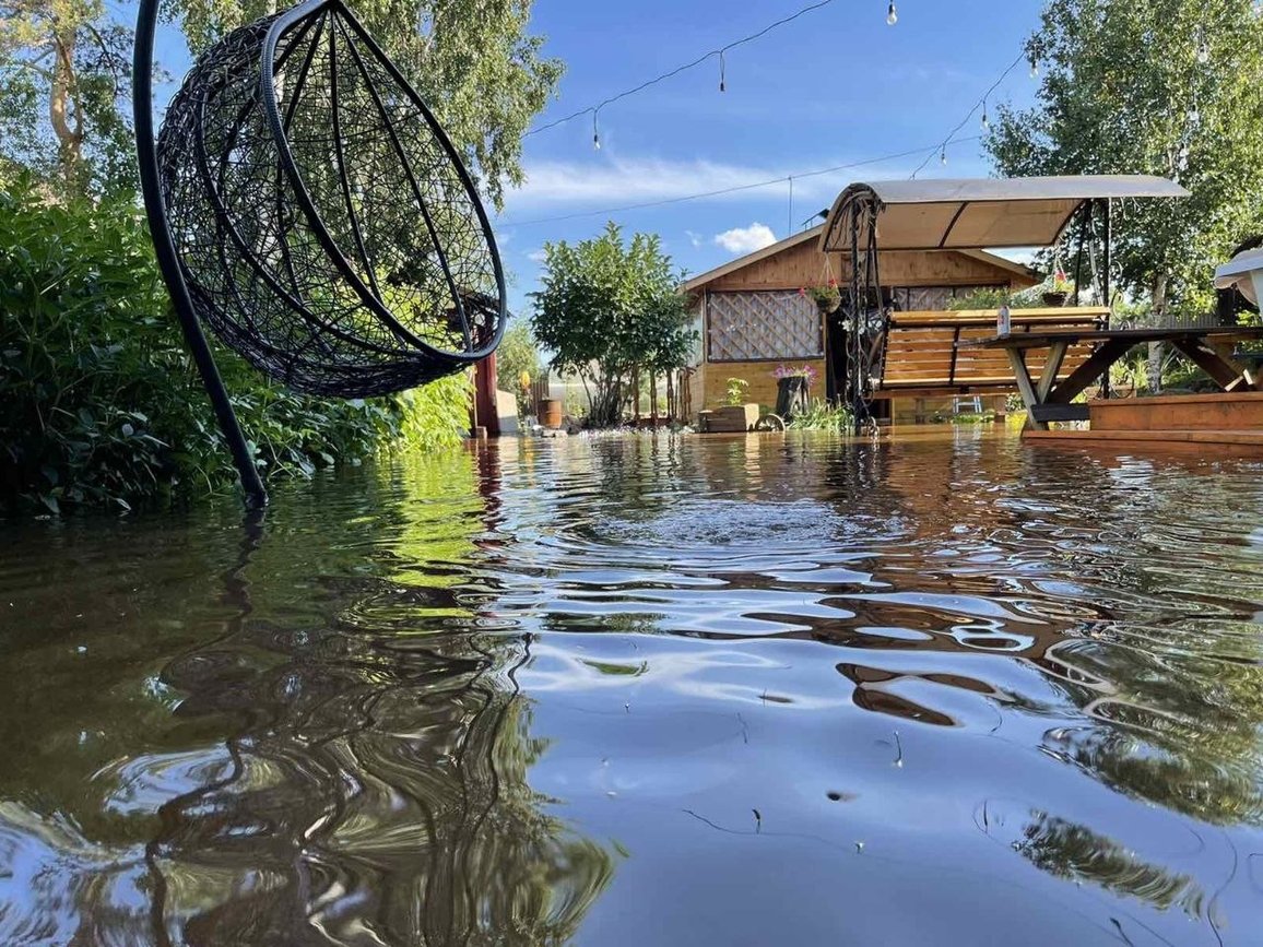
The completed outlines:
[[[1047,431],[1050,420],[1087,420],[1086,404],[1071,404],[1094,379],[1105,374],[1132,346],[1142,342],[1170,342],[1205,371],[1225,391],[1259,388],[1259,376],[1233,354],[1242,341],[1263,338],[1263,326],[1212,326],[1175,328],[1082,328],[1050,330],[1046,332],[1014,332],[1008,336],[961,340],[961,348],[1000,348],[1009,357],[1013,379],[1026,403],[1029,423]],[[1092,345],[1091,356],[1074,371],[1057,380],[1066,351],[1080,343]],[[1047,348],[1039,379],[1027,369],[1026,352]]]

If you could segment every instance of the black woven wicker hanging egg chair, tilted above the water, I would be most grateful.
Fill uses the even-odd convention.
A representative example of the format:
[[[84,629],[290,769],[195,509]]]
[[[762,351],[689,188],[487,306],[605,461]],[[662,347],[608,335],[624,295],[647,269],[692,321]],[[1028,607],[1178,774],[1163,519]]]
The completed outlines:
[[[499,342],[504,274],[477,191],[341,0],[299,4],[202,56],[157,164],[196,317],[287,386],[388,394]]]

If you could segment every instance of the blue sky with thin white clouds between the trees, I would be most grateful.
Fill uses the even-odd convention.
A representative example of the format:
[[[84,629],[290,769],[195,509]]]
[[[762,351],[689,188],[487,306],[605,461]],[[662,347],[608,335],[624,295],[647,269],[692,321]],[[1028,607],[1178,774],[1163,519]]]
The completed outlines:
[[[578,111],[755,33],[808,0],[536,0],[533,32],[566,63],[560,96],[537,125]],[[352,0],[354,6],[354,0]],[[922,155],[664,207],[595,213],[868,160],[941,141],[1022,49],[1042,0],[834,0],[725,57],[525,140],[527,184],[494,223],[510,304],[525,313],[546,241],[582,240],[615,220],[662,236],[692,274],[783,239],[849,182],[902,178]],[[164,29],[159,56],[184,59]],[[184,59],[187,61],[187,59]],[[993,101],[1024,105],[1036,83],[1019,66]],[[172,90],[173,91],[173,90]],[[159,93],[162,96],[162,93]],[[159,105],[164,105],[160,102]],[[975,115],[959,133],[980,131]],[[985,176],[976,140],[935,154],[919,177]],[[568,217],[568,220],[553,220]]]

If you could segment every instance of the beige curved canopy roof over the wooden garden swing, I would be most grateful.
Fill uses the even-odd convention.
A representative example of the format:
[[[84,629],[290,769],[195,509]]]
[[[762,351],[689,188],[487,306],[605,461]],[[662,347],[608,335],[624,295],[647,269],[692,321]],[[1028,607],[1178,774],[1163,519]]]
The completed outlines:
[[[874,201],[879,250],[983,250],[1051,246],[1085,202],[1124,197],[1188,192],[1148,174],[856,182],[834,201],[820,249],[849,251],[844,221]]]

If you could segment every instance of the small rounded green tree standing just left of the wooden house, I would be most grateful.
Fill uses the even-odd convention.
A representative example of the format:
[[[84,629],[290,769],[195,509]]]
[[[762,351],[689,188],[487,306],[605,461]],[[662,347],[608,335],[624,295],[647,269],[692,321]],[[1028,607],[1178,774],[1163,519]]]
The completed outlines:
[[[637,234],[624,244],[613,222],[592,240],[544,245],[532,326],[556,352],[552,366],[582,381],[592,424],[619,420],[628,386],[642,371],[687,362],[696,332],[679,280],[655,235]]]

